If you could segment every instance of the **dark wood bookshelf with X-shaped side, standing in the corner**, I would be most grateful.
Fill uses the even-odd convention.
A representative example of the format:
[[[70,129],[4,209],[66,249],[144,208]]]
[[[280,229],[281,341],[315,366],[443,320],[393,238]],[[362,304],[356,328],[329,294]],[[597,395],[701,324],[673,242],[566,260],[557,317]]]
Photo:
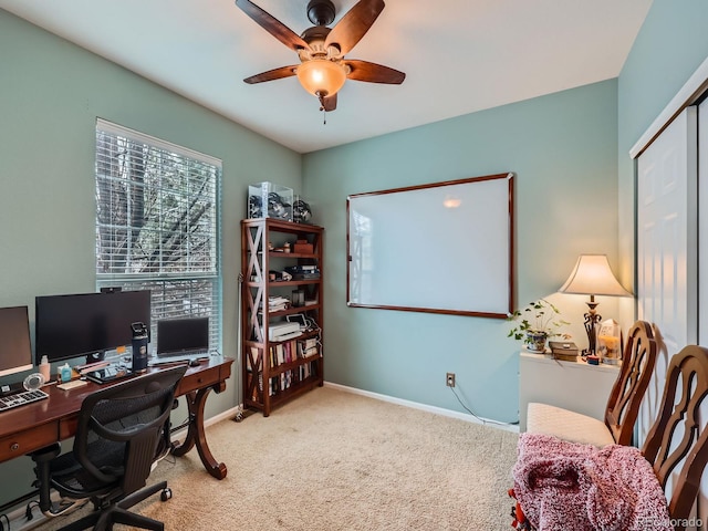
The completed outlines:
[[[323,323],[323,232],[322,227],[293,223],[272,218],[241,221],[241,360],[243,377],[243,405],[269,416],[272,408],[324,383],[322,356]],[[268,250],[269,243],[294,244],[306,240],[313,252],[281,252]],[[316,279],[269,280],[269,272],[290,266],[315,266]],[[287,299],[292,289],[302,289],[305,300],[314,304],[290,305],[283,310],[263,312],[271,295]],[[270,341],[269,327],[285,321],[288,315],[303,314],[316,323],[313,330],[282,341]],[[313,346],[314,343],[314,346]],[[285,348],[289,360],[273,363],[273,348]],[[300,356],[310,344],[310,353]],[[312,353],[312,350],[316,350]],[[293,352],[294,351],[294,352]]]

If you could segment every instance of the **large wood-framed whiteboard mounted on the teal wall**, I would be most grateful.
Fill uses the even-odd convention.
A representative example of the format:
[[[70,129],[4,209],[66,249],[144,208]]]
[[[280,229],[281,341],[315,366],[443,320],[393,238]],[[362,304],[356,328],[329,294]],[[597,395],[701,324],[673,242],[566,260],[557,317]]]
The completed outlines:
[[[346,207],[347,305],[512,311],[512,174],[356,194]]]

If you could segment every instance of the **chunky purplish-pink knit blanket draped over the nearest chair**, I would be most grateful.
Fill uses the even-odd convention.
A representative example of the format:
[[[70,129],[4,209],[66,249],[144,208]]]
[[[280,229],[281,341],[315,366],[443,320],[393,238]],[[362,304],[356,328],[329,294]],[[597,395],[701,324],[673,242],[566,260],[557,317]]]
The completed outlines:
[[[637,448],[522,434],[513,467],[517,501],[539,531],[673,530],[666,497]]]

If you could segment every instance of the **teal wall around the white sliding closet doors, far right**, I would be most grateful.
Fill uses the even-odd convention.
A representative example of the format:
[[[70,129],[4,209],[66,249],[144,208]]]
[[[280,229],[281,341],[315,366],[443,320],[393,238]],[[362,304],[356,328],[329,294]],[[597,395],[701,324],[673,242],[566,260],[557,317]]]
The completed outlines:
[[[634,277],[634,163],[629,149],[708,58],[708,2],[654,0],[618,79],[621,271]]]

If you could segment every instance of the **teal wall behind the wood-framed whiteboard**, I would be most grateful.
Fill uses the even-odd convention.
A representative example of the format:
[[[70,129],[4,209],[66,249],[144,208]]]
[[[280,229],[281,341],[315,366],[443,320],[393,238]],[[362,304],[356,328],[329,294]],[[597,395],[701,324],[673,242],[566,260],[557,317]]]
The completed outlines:
[[[477,415],[518,419],[520,345],[506,337],[509,323],[346,306],[346,197],[512,171],[517,300],[552,294],[580,253],[615,258],[616,88],[605,81],[304,156],[304,194],[326,229],[329,382],[461,412],[445,386],[454,372]],[[410,268],[420,252],[425,242]],[[410,289],[437,289],[435,275],[420,271]],[[565,317],[577,323],[582,312],[581,302]]]

